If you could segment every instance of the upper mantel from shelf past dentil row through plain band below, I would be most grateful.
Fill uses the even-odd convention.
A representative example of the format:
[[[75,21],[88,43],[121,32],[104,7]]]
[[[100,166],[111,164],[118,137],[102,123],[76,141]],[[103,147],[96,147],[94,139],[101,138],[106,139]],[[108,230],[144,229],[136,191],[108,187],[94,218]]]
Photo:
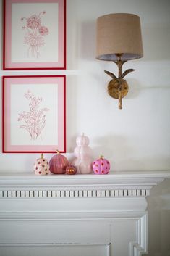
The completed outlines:
[[[91,218],[94,212],[96,218],[135,216],[135,212],[138,216],[147,209],[150,189],[166,178],[170,178],[169,170],[114,172],[103,176],[1,173],[0,219],[40,218],[40,215]]]

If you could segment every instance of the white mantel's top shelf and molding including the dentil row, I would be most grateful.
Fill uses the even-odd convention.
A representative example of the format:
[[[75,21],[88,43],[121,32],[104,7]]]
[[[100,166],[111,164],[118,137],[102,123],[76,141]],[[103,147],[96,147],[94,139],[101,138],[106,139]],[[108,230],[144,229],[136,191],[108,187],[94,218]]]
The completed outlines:
[[[170,171],[115,172],[106,176],[0,173],[0,199],[147,197]]]

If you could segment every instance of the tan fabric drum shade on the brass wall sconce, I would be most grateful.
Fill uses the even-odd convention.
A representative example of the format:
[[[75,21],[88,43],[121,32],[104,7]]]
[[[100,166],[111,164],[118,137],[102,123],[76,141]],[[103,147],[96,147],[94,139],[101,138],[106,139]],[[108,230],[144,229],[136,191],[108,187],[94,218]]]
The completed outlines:
[[[122,60],[143,57],[140,17],[127,13],[103,15],[97,20],[96,58]]]

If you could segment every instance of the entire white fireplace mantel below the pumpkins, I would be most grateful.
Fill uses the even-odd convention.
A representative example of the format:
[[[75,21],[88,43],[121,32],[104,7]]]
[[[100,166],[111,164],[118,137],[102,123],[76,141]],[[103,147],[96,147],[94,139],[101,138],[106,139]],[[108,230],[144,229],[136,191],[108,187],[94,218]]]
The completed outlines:
[[[166,178],[169,170],[106,176],[1,173],[0,255],[24,256],[28,249],[32,255],[46,255],[46,249],[48,255],[69,255],[72,246],[81,247],[82,256],[143,255],[147,197]]]

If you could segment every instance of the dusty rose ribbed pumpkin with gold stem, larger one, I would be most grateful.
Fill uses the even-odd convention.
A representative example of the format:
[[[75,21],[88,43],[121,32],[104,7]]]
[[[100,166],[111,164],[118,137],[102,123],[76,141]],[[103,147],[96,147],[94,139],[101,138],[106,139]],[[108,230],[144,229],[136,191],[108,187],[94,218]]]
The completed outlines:
[[[54,155],[54,157],[51,157],[49,165],[51,173],[65,174],[66,168],[69,165],[69,161],[66,157],[64,157],[64,155],[60,154],[60,152],[56,150],[56,155]]]

